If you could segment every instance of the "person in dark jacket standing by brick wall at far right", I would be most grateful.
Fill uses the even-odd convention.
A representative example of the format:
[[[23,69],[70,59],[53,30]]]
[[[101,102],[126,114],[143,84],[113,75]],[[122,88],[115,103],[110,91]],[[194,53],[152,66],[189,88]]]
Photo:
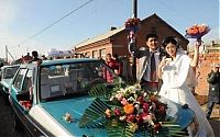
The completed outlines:
[[[210,118],[215,103],[220,102],[220,64],[213,65],[210,73],[208,73],[207,81],[209,83],[208,105],[207,105],[207,118]]]

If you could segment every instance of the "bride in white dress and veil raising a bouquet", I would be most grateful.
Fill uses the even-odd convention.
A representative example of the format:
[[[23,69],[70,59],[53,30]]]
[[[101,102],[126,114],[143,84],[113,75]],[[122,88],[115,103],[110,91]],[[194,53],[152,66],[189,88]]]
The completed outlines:
[[[190,137],[215,137],[205,112],[190,89],[197,84],[193,67],[198,65],[199,45],[197,42],[194,58],[190,59],[175,37],[168,36],[164,39],[163,46],[168,57],[163,58],[158,65],[158,77],[163,80],[160,95],[180,104],[188,104],[195,112],[195,121],[187,127]]]

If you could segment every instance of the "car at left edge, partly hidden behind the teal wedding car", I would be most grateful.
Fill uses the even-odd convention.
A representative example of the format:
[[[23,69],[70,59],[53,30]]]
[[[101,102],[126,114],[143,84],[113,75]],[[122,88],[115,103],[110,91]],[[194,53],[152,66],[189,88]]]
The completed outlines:
[[[13,79],[16,70],[20,65],[13,66],[3,66],[1,67],[1,81],[0,81],[0,91],[3,94],[3,100],[8,104],[9,102],[9,87],[11,84],[11,80]]]

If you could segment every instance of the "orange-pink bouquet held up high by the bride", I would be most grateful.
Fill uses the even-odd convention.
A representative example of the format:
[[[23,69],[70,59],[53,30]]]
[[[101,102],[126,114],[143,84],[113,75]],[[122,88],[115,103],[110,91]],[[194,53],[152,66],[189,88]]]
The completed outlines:
[[[186,30],[187,38],[201,38],[210,31],[209,26],[206,24],[195,24]]]

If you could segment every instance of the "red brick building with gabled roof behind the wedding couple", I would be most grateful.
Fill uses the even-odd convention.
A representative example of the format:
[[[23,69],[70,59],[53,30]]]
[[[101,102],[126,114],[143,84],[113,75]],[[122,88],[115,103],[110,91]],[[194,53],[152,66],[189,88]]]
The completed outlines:
[[[156,33],[160,36],[158,44],[161,45],[162,39],[166,36],[176,36],[180,39],[180,45],[186,50],[188,39],[186,39],[174,27],[163,21],[156,14],[141,21],[141,28],[138,32],[136,45],[145,45],[146,33]],[[102,35],[98,35],[92,38],[88,38],[73,47],[78,55],[84,55],[91,58],[106,58],[107,54],[118,54],[119,56],[130,56],[128,50],[128,31],[124,26],[117,28],[111,27],[110,31]]]

